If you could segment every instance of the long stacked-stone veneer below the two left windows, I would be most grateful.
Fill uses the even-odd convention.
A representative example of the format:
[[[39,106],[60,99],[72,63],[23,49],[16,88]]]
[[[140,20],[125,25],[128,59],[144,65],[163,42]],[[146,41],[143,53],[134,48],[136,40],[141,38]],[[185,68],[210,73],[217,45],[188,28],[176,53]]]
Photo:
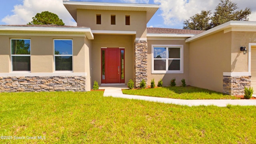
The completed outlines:
[[[0,92],[86,91],[86,76],[5,76]]]

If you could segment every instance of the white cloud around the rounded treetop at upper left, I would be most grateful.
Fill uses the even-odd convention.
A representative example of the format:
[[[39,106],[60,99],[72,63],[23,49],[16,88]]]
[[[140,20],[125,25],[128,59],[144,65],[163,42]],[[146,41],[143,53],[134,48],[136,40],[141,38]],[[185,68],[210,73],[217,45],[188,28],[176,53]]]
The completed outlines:
[[[8,15],[1,21],[6,24],[27,24],[32,21],[32,17],[43,11],[57,14],[67,26],[76,26],[62,0],[24,0],[23,4],[14,6],[13,15]]]

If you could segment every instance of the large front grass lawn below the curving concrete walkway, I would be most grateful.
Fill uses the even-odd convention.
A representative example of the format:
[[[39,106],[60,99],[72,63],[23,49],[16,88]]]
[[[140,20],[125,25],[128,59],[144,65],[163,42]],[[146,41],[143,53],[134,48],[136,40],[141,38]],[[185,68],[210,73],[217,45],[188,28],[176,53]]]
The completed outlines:
[[[0,93],[0,143],[256,143],[256,106],[178,106],[103,92]]]

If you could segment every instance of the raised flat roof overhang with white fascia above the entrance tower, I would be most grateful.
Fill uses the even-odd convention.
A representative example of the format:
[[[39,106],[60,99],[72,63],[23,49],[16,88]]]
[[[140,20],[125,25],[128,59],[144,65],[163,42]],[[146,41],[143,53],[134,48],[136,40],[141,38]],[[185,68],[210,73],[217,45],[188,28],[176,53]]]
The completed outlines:
[[[158,4],[127,4],[127,3],[103,3],[103,2],[76,2],[63,1],[64,6],[77,22],[77,9],[86,10],[124,10],[124,11],[144,11],[147,12],[147,22],[158,10]]]

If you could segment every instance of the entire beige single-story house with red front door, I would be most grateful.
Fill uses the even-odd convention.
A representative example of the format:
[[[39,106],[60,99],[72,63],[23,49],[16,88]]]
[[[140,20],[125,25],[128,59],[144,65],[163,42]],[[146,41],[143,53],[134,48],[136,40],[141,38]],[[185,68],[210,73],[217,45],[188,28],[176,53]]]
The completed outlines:
[[[168,86],[172,78],[231,95],[256,89],[256,22],[147,28],[156,4],[63,4],[77,26],[0,26],[0,92],[90,91],[95,80]]]

